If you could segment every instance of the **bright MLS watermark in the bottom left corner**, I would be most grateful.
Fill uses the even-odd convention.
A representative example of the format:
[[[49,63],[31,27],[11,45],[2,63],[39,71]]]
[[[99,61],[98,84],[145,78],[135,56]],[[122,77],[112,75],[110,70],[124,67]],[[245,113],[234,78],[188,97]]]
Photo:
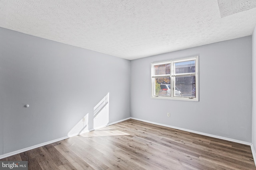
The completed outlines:
[[[0,161],[0,170],[28,170],[28,161]]]

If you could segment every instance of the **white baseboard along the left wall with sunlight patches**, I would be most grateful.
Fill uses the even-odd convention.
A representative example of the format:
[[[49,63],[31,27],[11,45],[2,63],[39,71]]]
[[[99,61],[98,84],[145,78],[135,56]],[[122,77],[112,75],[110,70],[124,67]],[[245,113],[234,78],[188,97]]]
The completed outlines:
[[[49,145],[51,143],[54,143],[54,142],[58,142],[58,141],[62,141],[64,139],[68,139],[70,137],[74,137],[74,136],[77,136],[77,135],[80,135],[80,134],[83,134],[83,133],[86,133],[86,132],[89,132],[89,131],[93,131],[95,129],[99,129],[101,127],[106,127],[106,126],[109,126],[109,125],[112,125],[112,124],[115,124],[115,123],[119,123],[121,121],[125,121],[125,120],[128,120],[128,119],[131,119],[131,117],[128,117],[126,119],[122,119],[122,120],[119,120],[119,121],[115,121],[115,122],[112,122],[112,123],[108,123],[107,125],[104,125],[104,126],[100,126],[100,127],[96,127],[94,129],[89,129],[87,131],[83,131],[82,133],[74,133],[72,135],[68,135],[68,136],[65,136],[65,137],[61,137],[61,138],[58,138],[58,139],[54,139],[52,141],[48,141],[48,142],[44,142],[44,143],[40,143],[38,145],[34,145],[34,146],[31,146],[31,147],[27,147],[27,148],[24,148],[24,149],[20,149],[20,150],[15,150],[13,152],[9,152],[9,153],[6,153],[6,154],[2,154],[0,155],[0,159],[2,158],[6,158],[6,157],[9,157],[9,156],[12,156],[12,155],[15,155],[15,154],[19,154],[19,153],[22,153],[22,152],[26,152],[28,150],[31,150],[31,149],[36,149],[36,148],[39,148],[39,147],[43,147],[45,145]]]

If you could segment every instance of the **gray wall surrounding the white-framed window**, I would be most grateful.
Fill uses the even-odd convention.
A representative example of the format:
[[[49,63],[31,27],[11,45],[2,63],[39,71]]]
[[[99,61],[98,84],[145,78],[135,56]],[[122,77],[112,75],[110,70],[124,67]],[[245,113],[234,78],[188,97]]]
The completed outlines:
[[[131,61],[131,116],[251,142],[251,42],[248,36]],[[150,98],[150,63],[195,55],[199,102]]]

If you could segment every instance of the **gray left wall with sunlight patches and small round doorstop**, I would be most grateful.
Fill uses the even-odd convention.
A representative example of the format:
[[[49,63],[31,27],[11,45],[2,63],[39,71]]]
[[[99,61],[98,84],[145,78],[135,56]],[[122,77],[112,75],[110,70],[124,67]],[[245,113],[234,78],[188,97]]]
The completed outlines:
[[[92,129],[95,110],[130,117],[130,61],[4,28],[0,39],[0,155]]]

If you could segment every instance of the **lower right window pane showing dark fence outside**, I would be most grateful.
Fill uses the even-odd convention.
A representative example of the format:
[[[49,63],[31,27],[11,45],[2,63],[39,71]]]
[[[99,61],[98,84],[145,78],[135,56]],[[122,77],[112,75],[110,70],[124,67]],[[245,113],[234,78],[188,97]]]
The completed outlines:
[[[174,96],[196,97],[196,76],[175,77]]]

